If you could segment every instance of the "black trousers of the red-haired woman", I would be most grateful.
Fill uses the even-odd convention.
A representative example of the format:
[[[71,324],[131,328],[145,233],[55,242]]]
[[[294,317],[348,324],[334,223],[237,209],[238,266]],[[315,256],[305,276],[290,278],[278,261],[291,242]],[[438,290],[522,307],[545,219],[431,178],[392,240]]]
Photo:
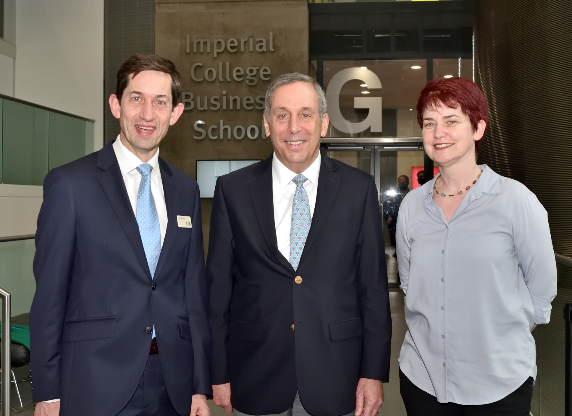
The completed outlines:
[[[399,370],[399,387],[407,416],[529,416],[533,383],[533,378],[529,377],[522,386],[498,402],[458,405],[439,403],[434,395],[419,389]]]

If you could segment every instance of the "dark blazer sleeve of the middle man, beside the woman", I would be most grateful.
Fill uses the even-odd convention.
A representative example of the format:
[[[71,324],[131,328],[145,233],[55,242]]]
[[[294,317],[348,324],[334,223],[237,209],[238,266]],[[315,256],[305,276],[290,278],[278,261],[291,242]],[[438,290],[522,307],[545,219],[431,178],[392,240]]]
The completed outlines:
[[[364,334],[360,377],[386,382],[390,370],[391,311],[381,213],[374,177],[370,178],[358,237],[357,281]]]

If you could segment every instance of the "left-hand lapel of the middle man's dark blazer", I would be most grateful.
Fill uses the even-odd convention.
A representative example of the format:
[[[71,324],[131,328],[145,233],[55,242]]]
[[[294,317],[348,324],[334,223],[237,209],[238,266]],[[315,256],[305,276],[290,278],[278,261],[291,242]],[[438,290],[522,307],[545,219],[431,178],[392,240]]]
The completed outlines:
[[[256,218],[268,249],[288,273],[293,273],[292,265],[278,250],[276,224],[274,222],[274,201],[272,198],[272,157],[261,162],[253,170],[257,178],[248,184]]]

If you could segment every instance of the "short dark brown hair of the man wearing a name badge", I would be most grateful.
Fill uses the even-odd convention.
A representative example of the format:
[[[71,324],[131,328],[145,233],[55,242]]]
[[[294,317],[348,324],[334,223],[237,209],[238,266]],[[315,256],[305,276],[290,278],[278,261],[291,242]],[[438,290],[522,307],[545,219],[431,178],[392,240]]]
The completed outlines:
[[[117,71],[116,95],[119,102],[123,91],[127,88],[129,80],[142,71],[160,71],[171,76],[171,95],[173,97],[173,108],[177,106],[181,96],[181,75],[175,69],[175,64],[169,59],[153,54],[133,54],[125,59],[121,68]]]

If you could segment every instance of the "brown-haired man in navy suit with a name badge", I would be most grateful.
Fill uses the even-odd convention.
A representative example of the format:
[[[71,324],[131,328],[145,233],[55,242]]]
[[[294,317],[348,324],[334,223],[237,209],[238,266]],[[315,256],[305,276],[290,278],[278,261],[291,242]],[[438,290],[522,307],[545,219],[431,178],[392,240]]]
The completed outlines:
[[[116,141],[44,182],[30,311],[34,414],[209,416],[198,186],[158,158],[182,113],[180,76],[172,62],[136,54],[117,81]]]

